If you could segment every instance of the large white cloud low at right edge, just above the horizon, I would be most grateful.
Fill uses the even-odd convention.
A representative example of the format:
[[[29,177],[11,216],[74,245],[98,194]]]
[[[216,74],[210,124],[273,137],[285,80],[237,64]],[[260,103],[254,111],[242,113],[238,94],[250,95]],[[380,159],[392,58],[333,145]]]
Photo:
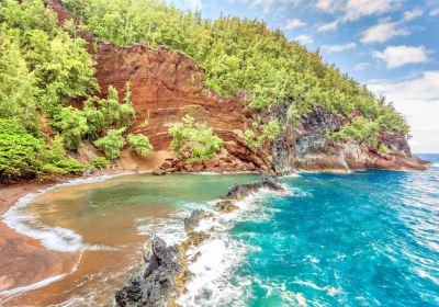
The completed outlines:
[[[387,96],[412,126],[414,152],[439,152],[439,70],[404,81],[371,80],[370,90]]]

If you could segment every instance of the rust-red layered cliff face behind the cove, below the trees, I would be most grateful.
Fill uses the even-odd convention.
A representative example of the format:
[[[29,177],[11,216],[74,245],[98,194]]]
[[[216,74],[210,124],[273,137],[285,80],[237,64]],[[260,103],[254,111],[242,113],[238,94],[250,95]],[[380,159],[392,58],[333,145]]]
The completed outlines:
[[[162,169],[187,171],[255,171],[271,167],[263,152],[248,148],[243,132],[251,112],[237,98],[223,99],[204,88],[204,71],[183,54],[167,48],[136,45],[119,48],[102,44],[94,54],[102,95],[109,86],[120,93],[131,84],[137,116],[128,133],[149,137],[155,150],[169,151],[169,127],[189,114],[205,122],[225,143],[213,161],[193,166],[168,159]]]

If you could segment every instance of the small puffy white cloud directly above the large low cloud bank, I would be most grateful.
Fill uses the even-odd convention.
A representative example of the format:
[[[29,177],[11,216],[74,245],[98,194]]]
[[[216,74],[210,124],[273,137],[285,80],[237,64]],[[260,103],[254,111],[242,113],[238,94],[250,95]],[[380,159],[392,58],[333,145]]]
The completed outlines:
[[[428,61],[427,50],[424,46],[389,46],[383,52],[374,52],[373,57],[384,60],[387,68]]]

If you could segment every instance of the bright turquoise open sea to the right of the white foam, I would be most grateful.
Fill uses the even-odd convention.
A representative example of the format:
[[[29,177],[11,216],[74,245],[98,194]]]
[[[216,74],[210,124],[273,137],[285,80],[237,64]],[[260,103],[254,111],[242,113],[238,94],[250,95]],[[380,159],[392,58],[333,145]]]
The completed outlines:
[[[439,306],[439,168],[284,182],[229,230],[246,251],[221,305]]]

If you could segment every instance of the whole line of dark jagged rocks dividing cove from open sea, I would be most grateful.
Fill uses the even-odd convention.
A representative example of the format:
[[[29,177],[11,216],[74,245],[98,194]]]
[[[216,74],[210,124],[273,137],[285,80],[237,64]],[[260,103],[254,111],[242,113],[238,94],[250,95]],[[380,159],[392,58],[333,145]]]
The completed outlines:
[[[260,189],[284,192],[277,177],[263,174],[258,182],[232,186],[214,209],[218,214],[230,213],[238,208],[236,202]],[[211,232],[215,230],[211,228],[206,232],[195,231],[200,221],[207,218],[214,219],[214,214],[203,209],[193,211],[190,217],[184,219],[187,239],[179,246],[167,247],[164,240],[153,236],[145,247],[145,264],[121,291],[116,292],[116,305],[121,307],[176,306],[176,299],[184,293],[184,284],[192,274],[188,270],[188,263],[195,261],[199,257],[195,254],[192,259],[188,259],[188,249],[207,240]]]

